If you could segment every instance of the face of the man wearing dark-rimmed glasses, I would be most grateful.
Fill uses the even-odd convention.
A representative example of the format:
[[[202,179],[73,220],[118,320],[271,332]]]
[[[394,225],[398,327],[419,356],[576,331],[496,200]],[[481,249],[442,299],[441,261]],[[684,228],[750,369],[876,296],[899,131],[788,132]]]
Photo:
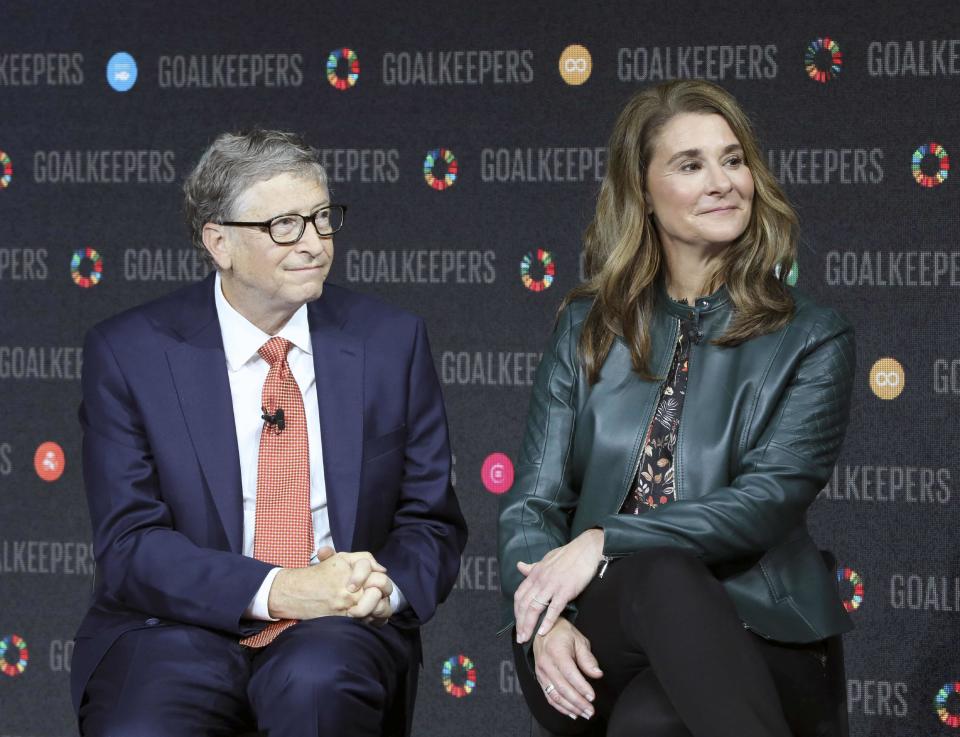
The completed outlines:
[[[248,188],[231,219],[263,221],[293,213],[309,218],[329,204],[326,186],[315,179],[280,174]],[[220,268],[224,296],[265,332],[279,330],[301,305],[323,292],[333,239],[320,238],[311,222],[300,240],[289,245],[274,243],[259,228],[219,228],[217,245],[208,248]]]

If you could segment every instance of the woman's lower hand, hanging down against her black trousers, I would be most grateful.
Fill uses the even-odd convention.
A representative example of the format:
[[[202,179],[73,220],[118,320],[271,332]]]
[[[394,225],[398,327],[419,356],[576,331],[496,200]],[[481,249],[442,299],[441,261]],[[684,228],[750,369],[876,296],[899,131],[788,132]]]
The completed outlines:
[[[573,719],[593,716],[596,694],[584,676],[600,678],[603,671],[580,630],[561,619],[549,634],[533,641],[533,659],[550,706]]]

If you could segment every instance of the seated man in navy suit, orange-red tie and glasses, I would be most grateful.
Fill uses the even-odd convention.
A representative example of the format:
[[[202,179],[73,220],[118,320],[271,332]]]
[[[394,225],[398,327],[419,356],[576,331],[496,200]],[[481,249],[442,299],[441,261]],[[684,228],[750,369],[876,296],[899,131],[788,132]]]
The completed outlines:
[[[184,191],[215,274],[86,341],[80,731],[402,733],[466,541],[423,323],[324,283],[346,208],[297,137]]]

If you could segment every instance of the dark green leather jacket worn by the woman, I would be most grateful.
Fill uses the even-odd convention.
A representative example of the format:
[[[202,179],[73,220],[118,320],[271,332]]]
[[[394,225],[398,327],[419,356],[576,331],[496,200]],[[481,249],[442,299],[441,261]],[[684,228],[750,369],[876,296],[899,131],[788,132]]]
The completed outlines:
[[[723,582],[744,625],[782,642],[852,628],[806,528],[847,427],[854,342],[836,312],[794,293],[783,329],[719,347],[731,317],[726,291],[687,307],[659,302],[650,366],[665,376],[679,319],[703,338],[691,345],[675,455],[676,501],[641,516],[618,514],[636,473],[660,384],[631,370],[617,339],[590,386],[577,358],[589,301],[561,314],[537,370],[513,488],[501,498],[503,621],[513,622],[518,560],[540,560],[584,530],[603,528],[604,554],[677,547]],[[575,602],[566,616],[576,615]]]

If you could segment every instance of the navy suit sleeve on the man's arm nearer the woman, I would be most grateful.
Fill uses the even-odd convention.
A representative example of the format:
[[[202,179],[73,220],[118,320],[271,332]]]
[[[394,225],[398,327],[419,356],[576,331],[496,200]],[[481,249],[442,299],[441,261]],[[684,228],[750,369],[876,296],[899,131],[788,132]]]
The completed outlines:
[[[456,582],[467,529],[450,483],[440,382],[419,319],[406,368],[407,441],[400,496],[393,527],[373,553],[403,592],[415,623],[423,624]]]

